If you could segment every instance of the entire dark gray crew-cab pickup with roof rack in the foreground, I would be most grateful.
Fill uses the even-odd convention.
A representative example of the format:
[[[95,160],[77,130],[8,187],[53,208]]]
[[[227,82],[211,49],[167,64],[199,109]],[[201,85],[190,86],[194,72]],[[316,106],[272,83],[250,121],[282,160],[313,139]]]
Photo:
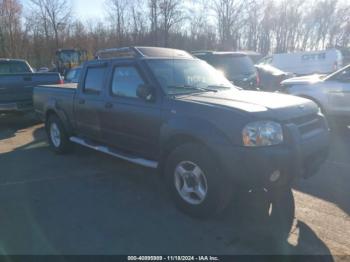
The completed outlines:
[[[77,143],[158,169],[176,205],[196,217],[243,191],[264,192],[285,212],[292,181],[315,174],[329,147],[312,101],[241,90],[174,49],[101,51],[78,84],[35,87],[34,106],[54,151]]]

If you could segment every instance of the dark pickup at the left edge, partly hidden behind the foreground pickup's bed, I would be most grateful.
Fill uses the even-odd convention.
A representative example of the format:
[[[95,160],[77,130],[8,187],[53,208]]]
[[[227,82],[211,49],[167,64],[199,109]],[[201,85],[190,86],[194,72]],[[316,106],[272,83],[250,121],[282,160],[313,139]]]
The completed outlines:
[[[34,73],[25,60],[0,59],[0,113],[33,110],[33,87],[61,82],[58,73]]]

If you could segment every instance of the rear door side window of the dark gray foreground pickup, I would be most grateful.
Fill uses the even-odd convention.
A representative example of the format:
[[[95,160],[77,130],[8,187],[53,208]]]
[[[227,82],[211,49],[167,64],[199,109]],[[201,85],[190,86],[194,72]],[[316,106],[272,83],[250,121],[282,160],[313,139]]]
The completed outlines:
[[[89,67],[86,72],[83,91],[87,94],[100,94],[106,78],[106,66]]]

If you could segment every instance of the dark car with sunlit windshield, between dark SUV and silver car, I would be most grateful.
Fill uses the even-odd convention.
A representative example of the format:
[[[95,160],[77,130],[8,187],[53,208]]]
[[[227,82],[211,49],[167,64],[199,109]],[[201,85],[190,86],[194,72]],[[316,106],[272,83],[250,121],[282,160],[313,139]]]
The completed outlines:
[[[281,89],[281,82],[295,77],[295,74],[284,72],[271,65],[255,65],[260,78],[260,90],[274,92]]]

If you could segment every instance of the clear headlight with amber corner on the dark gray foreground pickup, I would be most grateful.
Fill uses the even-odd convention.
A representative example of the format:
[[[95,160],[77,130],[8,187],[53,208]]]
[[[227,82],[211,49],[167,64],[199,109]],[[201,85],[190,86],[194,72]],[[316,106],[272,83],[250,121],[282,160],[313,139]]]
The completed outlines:
[[[273,146],[283,143],[283,129],[273,121],[253,122],[242,132],[243,145],[247,147]]]

